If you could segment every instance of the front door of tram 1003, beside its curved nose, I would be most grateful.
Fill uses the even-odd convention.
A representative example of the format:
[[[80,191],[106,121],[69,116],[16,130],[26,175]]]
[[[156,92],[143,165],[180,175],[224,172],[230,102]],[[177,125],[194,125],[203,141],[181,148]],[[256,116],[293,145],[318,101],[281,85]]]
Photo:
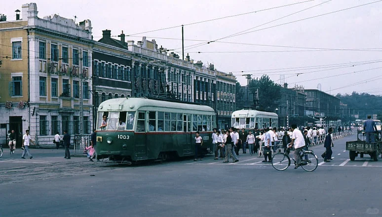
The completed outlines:
[[[135,133],[135,157],[146,158],[147,157],[147,114],[145,111],[138,112],[137,127]]]

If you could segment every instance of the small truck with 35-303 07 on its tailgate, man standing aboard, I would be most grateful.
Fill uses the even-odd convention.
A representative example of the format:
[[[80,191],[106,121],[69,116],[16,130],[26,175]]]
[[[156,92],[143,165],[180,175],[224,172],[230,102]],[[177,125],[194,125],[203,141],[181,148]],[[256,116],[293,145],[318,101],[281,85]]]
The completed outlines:
[[[367,143],[365,141],[365,131],[357,130],[357,140],[346,142],[346,150],[349,151],[351,161],[354,161],[358,154],[360,157],[363,157],[364,154],[368,154],[374,161],[378,161],[378,156],[382,153],[381,130],[375,132],[374,135],[376,142]]]

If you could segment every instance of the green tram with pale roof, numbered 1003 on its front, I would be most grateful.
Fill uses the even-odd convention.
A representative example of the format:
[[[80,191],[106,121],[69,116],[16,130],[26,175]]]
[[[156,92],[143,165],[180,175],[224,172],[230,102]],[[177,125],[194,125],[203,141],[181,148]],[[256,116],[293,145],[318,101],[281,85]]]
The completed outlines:
[[[109,158],[109,162],[194,155],[196,131],[203,138],[205,150],[212,151],[211,135],[216,119],[215,111],[208,106],[115,98],[102,102],[97,115],[97,155],[101,159]],[[103,121],[105,116],[107,119]]]

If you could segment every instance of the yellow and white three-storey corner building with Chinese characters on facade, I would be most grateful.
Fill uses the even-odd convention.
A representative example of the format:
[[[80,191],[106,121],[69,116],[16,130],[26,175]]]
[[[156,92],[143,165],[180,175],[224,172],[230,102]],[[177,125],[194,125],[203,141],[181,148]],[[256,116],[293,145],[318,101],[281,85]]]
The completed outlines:
[[[26,129],[39,145],[52,144],[52,135],[65,129],[89,133],[90,20],[77,25],[56,14],[41,19],[36,3],[23,4],[21,15],[0,22],[0,50],[7,57],[0,68],[1,125],[20,135],[18,144]]]

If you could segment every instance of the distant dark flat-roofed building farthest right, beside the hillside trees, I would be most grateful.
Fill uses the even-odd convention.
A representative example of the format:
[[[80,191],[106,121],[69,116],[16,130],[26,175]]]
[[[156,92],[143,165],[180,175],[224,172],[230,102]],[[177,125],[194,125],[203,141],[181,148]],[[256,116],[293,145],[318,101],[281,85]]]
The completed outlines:
[[[340,98],[316,90],[305,90],[306,116],[324,119],[326,125],[335,125],[340,119]]]

